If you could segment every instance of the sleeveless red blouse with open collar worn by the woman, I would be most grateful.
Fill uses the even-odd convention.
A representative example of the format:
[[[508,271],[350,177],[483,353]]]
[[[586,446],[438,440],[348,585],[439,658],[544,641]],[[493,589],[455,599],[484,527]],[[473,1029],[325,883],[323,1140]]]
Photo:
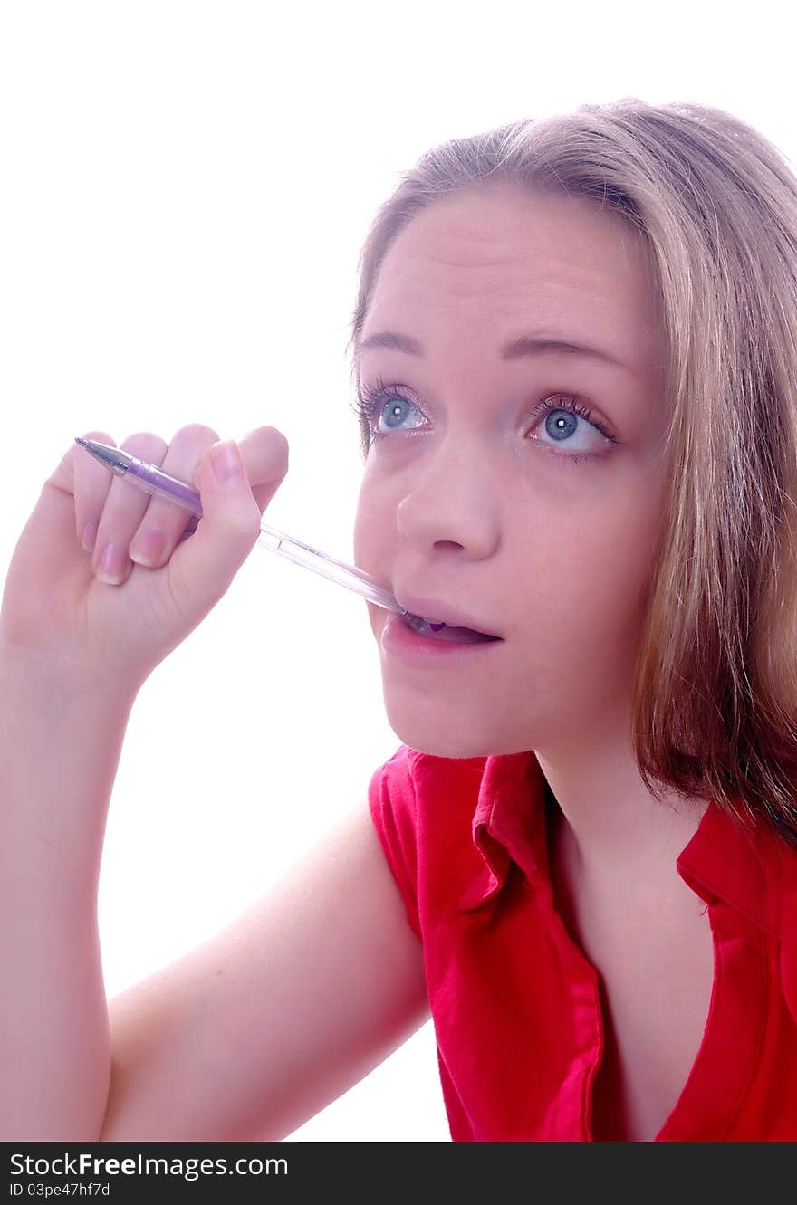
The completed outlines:
[[[374,827],[423,942],[455,1142],[592,1141],[598,974],[553,906],[533,752],[402,745],[374,774]],[[709,910],[703,1041],[656,1141],[797,1139],[797,852],[715,803],[676,860]]]

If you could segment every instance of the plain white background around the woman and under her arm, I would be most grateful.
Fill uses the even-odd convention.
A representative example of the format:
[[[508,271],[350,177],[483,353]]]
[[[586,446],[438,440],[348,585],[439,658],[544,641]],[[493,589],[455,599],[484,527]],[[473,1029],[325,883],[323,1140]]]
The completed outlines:
[[[376,207],[429,146],[635,95],[795,155],[783,8],[0,6],[0,570],[75,435],[288,439],[265,522],[345,560],[345,345]],[[736,23],[734,23],[736,22]],[[100,878],[109,997],[258,899],[398,747],[365,602],[256,548],[128,728]],[[447,1141],[429,1022],[292,1140]]]

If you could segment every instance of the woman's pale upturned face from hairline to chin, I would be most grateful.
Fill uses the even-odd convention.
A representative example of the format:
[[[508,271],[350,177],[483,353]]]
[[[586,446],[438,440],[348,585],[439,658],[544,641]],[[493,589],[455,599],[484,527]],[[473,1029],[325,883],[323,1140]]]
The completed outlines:
[[[388,392],[354,559],[399,600],[435,599],[504,637],[416,664],[381,647],[389,612],[369,604],[388,722],[412,748],[515,753],[568,730],[578,741],[627,707],[669,419],[661,313],[635,240],[584,199],[492,186],[422,211],[385,257],[359,372]],[[422,354],[362,347],[385,331]],[[617,363],[502,355],[539,336]]]

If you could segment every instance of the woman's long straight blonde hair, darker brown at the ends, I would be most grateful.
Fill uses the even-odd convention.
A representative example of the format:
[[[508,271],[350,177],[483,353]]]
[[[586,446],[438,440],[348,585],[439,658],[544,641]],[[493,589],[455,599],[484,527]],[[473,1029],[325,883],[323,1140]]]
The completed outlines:
[[[797,177],[738,118],[635,98],[427,151],[363,245],[347,349],[415,213],[496,181],[588,198],[646,240],[672,424],[634,693],[645,786],[797,847]],[[363,457],[369,433],[361,429]]]

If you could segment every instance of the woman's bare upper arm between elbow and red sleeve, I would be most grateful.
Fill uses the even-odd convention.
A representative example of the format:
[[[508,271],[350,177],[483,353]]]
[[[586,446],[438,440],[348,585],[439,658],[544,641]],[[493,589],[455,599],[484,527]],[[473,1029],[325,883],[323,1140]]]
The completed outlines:
[[[362,1080],[430,1015],[367,803],[109,1011],[102,1142],[280,1141]]]

